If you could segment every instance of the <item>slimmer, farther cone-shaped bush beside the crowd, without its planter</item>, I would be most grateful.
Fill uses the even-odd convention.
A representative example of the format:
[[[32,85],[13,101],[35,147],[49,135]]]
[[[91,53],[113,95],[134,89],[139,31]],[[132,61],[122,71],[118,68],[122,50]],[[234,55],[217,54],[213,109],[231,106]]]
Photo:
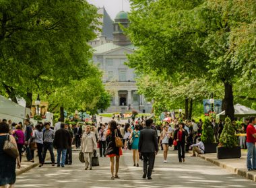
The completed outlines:
[[[209,118],[203,120],[203,133],[201,136],[201,141],[203,144],[214,143],[214,129],[212,128],[212,123]]]

